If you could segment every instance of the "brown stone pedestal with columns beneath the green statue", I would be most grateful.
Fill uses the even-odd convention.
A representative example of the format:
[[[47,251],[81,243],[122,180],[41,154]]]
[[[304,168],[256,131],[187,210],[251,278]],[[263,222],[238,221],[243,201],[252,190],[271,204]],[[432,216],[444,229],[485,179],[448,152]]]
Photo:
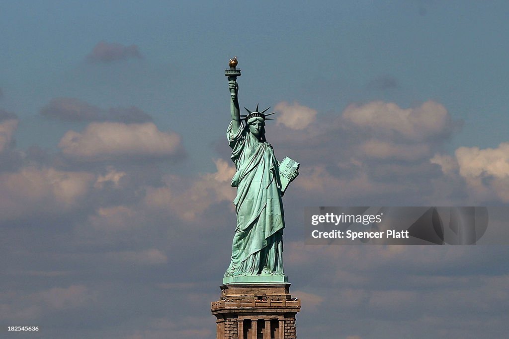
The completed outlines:
[[[230,283],[211,303],[217,339],[296,339],[295,315],[300,300],[289,283]]]

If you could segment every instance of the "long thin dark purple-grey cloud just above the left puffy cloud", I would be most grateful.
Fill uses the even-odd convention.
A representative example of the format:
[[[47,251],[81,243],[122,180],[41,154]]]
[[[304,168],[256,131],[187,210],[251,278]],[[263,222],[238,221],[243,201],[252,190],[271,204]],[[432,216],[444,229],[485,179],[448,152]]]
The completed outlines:
[[[152,117],[135,106],[102,110],[75,98],[55,98],[44,106],[41,115],[62,121],[117,121],[140,123],[152,121]]]

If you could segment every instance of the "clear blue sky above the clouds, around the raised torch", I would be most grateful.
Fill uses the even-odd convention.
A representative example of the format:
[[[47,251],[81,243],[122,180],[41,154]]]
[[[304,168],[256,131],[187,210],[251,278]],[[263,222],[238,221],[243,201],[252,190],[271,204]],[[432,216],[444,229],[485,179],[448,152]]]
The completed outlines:
[[[71,96],[142,106],[161,124],[171,112],[187,128],[189,114],[221,111],[217,70],[239,54],[247,105],[305,100],[337,114],[350,102],[434,99],[465,121],[455,145],[498,145],[507,108],[503,2],[334,4],[7,3],[4,107],[31,117],[50,98]],[[99,41],[136,44],[144,59],[87,68],[83,55]],[[366,90],[381,77],[396,88]]]

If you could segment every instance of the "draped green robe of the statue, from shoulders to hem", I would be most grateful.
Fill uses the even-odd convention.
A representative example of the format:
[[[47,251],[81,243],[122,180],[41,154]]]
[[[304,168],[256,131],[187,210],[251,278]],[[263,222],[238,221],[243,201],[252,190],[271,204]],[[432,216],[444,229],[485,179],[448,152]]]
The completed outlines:
[[[272,146],[259,141],[242,124],[227,138],[237,172],[232,187],[237,228],[232,244],[232,261],[224,276],[284,274],[282,229],[285,228],[279,169]]]

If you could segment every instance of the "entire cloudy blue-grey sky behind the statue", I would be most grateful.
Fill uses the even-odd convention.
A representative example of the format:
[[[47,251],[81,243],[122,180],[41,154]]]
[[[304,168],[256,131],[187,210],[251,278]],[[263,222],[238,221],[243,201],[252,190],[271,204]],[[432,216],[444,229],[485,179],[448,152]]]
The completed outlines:
[[[215,338],[236,55],[241,107],[276,111],[267,140],[301,163],[284,197],[299,337],[505,337],[507,245],[305,245],[303,210],[507,205],[508,14],[503,1],[2,2],[2,331]]]

